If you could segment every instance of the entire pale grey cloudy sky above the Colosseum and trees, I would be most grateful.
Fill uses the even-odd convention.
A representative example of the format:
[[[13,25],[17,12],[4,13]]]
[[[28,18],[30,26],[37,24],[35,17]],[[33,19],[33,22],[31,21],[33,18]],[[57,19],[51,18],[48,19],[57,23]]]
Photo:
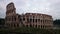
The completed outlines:
[[[6,5],[13,2],[18,14],[42,13],[60,19],[60,0],[0,0],[0,18],[5,17]]]

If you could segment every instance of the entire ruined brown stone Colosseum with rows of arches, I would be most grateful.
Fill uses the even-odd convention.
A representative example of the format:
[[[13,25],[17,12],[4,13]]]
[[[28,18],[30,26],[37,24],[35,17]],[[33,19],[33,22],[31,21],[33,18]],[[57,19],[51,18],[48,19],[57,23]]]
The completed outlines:
[[[11,2],[6,7],[5,26],[11,28],[34,27],[51,29],[53,27],[53,18],[50,15],[41,13],[16,14],[14,3]]]

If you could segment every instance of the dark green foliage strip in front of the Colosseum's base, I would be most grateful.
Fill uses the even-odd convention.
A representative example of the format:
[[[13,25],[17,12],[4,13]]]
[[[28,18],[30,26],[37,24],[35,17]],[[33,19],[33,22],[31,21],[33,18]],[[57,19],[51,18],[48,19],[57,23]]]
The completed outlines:
[[[60,29],[40,29],[32,27],[21,27],[16,29],[0,29],[0,33],[27,33],[27,34],[60,34]]]

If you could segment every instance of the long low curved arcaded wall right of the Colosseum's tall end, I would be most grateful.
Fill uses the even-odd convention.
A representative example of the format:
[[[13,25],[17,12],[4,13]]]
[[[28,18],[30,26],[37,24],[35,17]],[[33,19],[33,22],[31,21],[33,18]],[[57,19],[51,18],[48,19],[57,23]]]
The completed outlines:
[[[20,16],[20,22],[27,27],[34,28],[52,28],[53,19],[50,15],[38,14],[38,13],[26,13]]]

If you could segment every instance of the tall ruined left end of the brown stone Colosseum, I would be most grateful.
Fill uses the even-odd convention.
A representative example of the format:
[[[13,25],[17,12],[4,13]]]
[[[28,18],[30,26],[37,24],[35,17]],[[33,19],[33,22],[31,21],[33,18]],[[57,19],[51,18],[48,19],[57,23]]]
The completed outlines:
[[[7,27],[19,26],[18,16],[16,15],[16,8],[13,3],[10,3],[6,7],[5,25]]]

